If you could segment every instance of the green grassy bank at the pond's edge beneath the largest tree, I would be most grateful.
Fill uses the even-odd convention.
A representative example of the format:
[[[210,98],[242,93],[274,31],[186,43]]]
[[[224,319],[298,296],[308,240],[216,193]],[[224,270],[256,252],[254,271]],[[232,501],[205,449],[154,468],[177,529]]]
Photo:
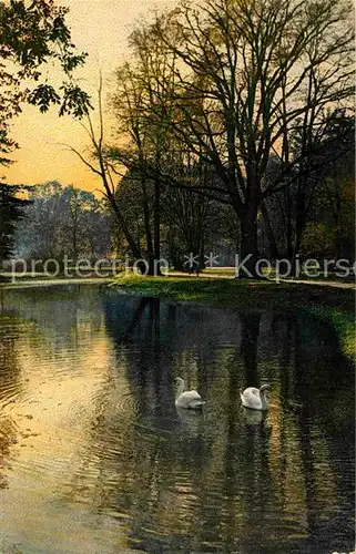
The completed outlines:
[[[204,301],[238,309],[304,309],[328,320],[348,356],[355,355],[355,289],[314,284],[193,276],[140,277],[122,275],[112,286],[126,293],[175,301]]]

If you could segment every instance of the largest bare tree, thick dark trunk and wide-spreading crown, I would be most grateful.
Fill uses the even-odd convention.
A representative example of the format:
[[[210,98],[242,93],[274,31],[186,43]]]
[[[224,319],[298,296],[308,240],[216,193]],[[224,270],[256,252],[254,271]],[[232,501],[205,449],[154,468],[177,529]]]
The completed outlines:
[[[172,82],[161,80],[167,129],[214,167],[206,193],[233,206],[241,224],[241,258],[254,275],[261,203],[288,186],[311,155],[309,130],[323,110],[352,92],[350,7],[339,0],[207,0],[161,16],[151,40],[170,53]],[[288,136],[303,120],[298,157]],[[281,173],[265,181],[271,155]],[[303,178],[299,174],[299,178]]]

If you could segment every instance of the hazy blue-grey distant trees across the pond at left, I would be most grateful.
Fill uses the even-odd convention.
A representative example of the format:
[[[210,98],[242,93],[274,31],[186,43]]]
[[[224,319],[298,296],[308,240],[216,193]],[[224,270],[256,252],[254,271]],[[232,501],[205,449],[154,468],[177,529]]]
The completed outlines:
[[[24,259],[95,261],[111,254],[111,216],[94,194],[58,182],[28,191],[13,235],[13,255]]]

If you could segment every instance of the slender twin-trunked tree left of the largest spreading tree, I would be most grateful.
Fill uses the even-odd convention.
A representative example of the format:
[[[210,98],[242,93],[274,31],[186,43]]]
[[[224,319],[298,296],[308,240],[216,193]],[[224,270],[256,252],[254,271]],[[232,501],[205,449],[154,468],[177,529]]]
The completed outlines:
[[[116,90],[111,105],[116,115],[116,130],[126,145],[112,146],[110,157],[134,174],[141,175],[142,211],[144,215],[150,268],[161,254],[162,168],[172,150],[170,132],[163,122],[167,106],[162,106],[161,82],[174,83],[174,55],[166,53],[145,29],[135,29],[130,38],[134,62],[125,63],[115,73]],[[165,85],[166,86],[166,85]],[[159,96],[157,96],[159,94]],[[150,171],[148,171],[150,168]],[[152,171],[153,170],[153,171]],[[153,183],[152,222],[149,209],[148,181]]]

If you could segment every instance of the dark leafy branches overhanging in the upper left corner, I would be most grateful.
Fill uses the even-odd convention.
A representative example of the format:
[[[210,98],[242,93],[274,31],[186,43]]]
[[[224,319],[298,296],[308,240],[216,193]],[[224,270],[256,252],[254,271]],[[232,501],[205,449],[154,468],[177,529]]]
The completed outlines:
[[[30,102],[41,112],[58,104],[81,117],[90,106],[89,95],[71,81],[72,71],[84,63],[87,53],[77,52],[65,23],[68,8],[53,0],[0,1],[0,124],[7,126],[21,105]],[[65,80],[57,91],[40,82],[43,64],[58,62]],[[38,83],[34,88],[31,83]]]

